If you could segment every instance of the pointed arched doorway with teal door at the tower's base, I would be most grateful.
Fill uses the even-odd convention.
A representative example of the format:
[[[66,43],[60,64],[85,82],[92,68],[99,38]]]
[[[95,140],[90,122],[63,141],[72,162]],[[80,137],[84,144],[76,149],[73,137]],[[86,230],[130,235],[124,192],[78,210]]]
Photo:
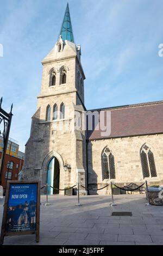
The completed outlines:
[[[52,157],[47,166],[48,194],[59,194],[60,167],[57,157]],[[57,188],[57,189],[56,189]]]

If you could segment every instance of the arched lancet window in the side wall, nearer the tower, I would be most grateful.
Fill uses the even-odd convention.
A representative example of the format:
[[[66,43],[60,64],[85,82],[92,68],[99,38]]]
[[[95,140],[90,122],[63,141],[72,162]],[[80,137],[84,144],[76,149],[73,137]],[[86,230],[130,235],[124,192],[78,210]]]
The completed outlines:
[[[115,179],[115,162],[109,148],[105,148],[102,154],[103,179]]]

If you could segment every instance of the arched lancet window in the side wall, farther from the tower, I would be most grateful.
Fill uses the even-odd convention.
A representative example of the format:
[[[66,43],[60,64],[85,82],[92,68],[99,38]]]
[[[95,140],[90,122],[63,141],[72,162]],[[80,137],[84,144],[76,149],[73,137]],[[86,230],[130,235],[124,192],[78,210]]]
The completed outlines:
[[[151,149],[147,145],[143,145],[140,152],[140,157],[141,157],[143,178],[156,177],[157,173],[155,168],[154,156]]]

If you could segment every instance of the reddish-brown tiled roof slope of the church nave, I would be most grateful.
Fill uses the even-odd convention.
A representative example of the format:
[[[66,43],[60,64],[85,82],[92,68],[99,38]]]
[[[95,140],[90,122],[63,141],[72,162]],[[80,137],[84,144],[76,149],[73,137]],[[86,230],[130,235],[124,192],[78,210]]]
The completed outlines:
[[[93,109],[111,112],[111,134],[107,138],[163,133],[163,101]],[[87,139],[102,139],[101,130],[87,131]]]

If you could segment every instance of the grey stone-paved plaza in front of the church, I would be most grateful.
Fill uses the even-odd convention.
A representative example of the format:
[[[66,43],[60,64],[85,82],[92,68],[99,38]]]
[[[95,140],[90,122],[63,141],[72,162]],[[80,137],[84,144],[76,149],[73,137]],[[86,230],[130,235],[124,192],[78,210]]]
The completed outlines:
[[[35,235],[4,237],[4,245],[163,245],[163,206],[145,205],[145,194],[41,196],[40,242]],[[131,211],[133,216],[111,216]],[[0,206],[1,222],[3,208]]]

